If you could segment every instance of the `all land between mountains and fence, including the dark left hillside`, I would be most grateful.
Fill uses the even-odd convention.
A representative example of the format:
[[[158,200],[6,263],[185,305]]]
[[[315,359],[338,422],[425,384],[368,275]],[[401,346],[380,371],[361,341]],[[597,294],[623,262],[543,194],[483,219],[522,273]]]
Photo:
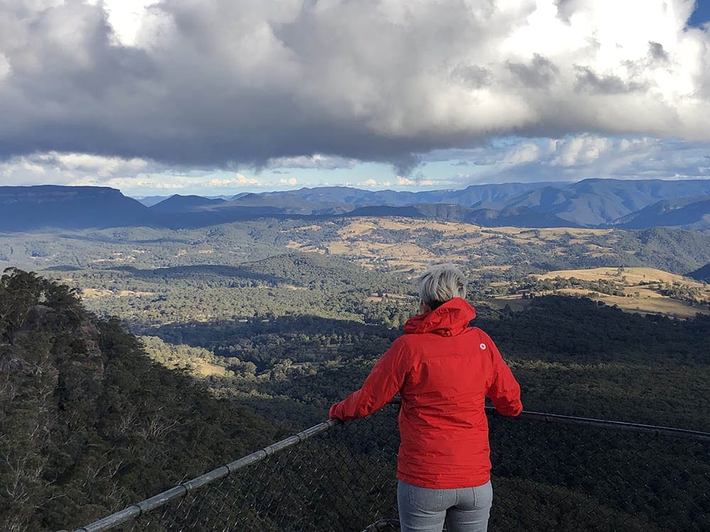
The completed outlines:
[[[148,497],[323,421],[417,312],[414,280],[440,262],[466,273],[473,323],[501,349],[525,409],[710,431],[708,233],[293,216],[2,233],[0,266],[40,277],[11,269],[0,286],[4,382],[35,398],[6,405],[16,436],[0,451],[61,475],[30,475],[22,489],[40,500],[71,487],[65,507],[82,521]],[[33,436],[28,411],[74,434],[75,455],[51,431]],[[182,465],[195,431],[209,436]],[[163,434],[179,445],[166,449]],[[82,482],[106,460],[115,469],[83,506]],[[136,468],[158,480],[142,486]],[[23,519],[68,526],[77,518],[63,507]]]

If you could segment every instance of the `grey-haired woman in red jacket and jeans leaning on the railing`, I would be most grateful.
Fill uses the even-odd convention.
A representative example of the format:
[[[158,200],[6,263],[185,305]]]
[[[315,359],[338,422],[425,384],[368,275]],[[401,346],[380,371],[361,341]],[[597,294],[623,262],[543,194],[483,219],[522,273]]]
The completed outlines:
[[[330,417],[362,418],[399,393],[401,530],[440,532],[445,520],[449,532],[486,531],[493,489],[485,400],[517,416],[520,385],[493,340],[469,326],[476,311],[459,270],[432,267],[419,296],[420,314]]]

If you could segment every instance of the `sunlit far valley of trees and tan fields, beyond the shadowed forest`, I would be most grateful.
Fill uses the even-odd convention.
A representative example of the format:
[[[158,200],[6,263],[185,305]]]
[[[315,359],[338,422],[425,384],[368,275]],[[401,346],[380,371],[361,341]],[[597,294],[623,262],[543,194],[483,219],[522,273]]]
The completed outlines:
[[[298,270],[290,255],[369,276],[358,297],[405,295],[410,279],[427,265],[453,262],[469,276],[472,297],[479,299],[520,305],[530,297],[568,294],[650,314],[690,317],[709,311],[707,284],[684,277],[710,257],[710,235],[694,231],[267,218],[180,231],[11,233],[0,240],[1,267],[43,271],[79,289],[89,309],[127,321],[155,325],[283,315],[298,311],[292,305],[338,316],[342,309],[289,271]],[[239,290],[230,289],[235,287]],[[366,306],[364,299],[350,299],[353,309]],[[386,304],[403,306],[403,301],[391,298]]]

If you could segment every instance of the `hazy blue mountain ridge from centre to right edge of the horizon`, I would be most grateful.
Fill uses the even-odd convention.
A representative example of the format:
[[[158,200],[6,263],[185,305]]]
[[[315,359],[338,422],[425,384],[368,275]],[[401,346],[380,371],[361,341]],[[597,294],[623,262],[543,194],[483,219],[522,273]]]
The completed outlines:
[[[437,218],[451,221],[470,221],[488,225],[510,224],[531,227],[604,227],[621,223],[624,216],[645,209],[658,201],[710,195],[710,179],[663,181],[661,179],[621,180],[584,179],[575,183],[504,183],[471,185],[462,190],[425,192],[368,191],[352,187],[302,188],[285,192],[247,194],[230,203],[244,201],[251,206],[271,206],[283,209],[284,214],[346,214],[376,216],[365,213],[384,213],[380,216],[432,217],[432,208],[422,211],[422,204],[459,205],[472,210],[487,209],[477,216],[462,217],[462,211],[448,209],[453,218],[441,216],[447,209],[438,209]],[[361,207],[416,206],[402,211],[366,209]],[[513,209],[513,210],[510,210]],[[525,211],[515,209],[526,209]],[[424,211],[428,211],[425,213]],[[493,211],[501,211],[493,214]],[[400,212],[400,214],[393,214]],[[410,214],[405,214],[409,212]],[[539,216],[533,216],[535,213]],[[667,222],[667,223],[666,223]],[[710,228],[710,221],[692,219],[693,228]],[[638,228],[652,226],[684,226],[674,221],[646,220]]]

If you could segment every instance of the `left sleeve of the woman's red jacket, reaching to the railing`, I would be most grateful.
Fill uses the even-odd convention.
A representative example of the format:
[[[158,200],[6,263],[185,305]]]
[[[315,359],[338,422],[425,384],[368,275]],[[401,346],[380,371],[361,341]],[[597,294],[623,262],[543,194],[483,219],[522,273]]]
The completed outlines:
[[[402,346],[395,340],[373,366],[362,387],[330,407],[329,417],[342,421],[364,418],[391,401],[405,379],[402,355]]]

